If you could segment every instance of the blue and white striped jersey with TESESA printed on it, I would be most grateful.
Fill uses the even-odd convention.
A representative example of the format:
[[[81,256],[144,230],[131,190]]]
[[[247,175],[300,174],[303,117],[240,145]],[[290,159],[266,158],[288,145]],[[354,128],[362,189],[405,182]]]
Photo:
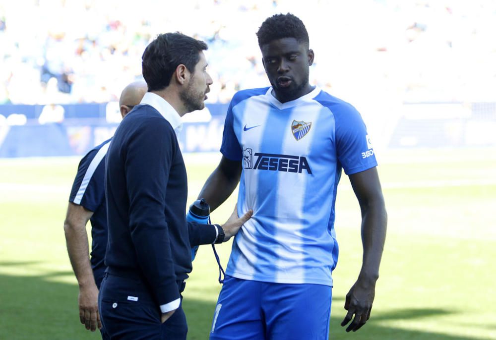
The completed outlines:
[[[315,88],[281,104],[272,88],[232,99],[221,152],[242,161],[236,235],[226,274],[332,286],[338,259],[334,203],[341,170],[377,165],[365,123],[350,104]]]

